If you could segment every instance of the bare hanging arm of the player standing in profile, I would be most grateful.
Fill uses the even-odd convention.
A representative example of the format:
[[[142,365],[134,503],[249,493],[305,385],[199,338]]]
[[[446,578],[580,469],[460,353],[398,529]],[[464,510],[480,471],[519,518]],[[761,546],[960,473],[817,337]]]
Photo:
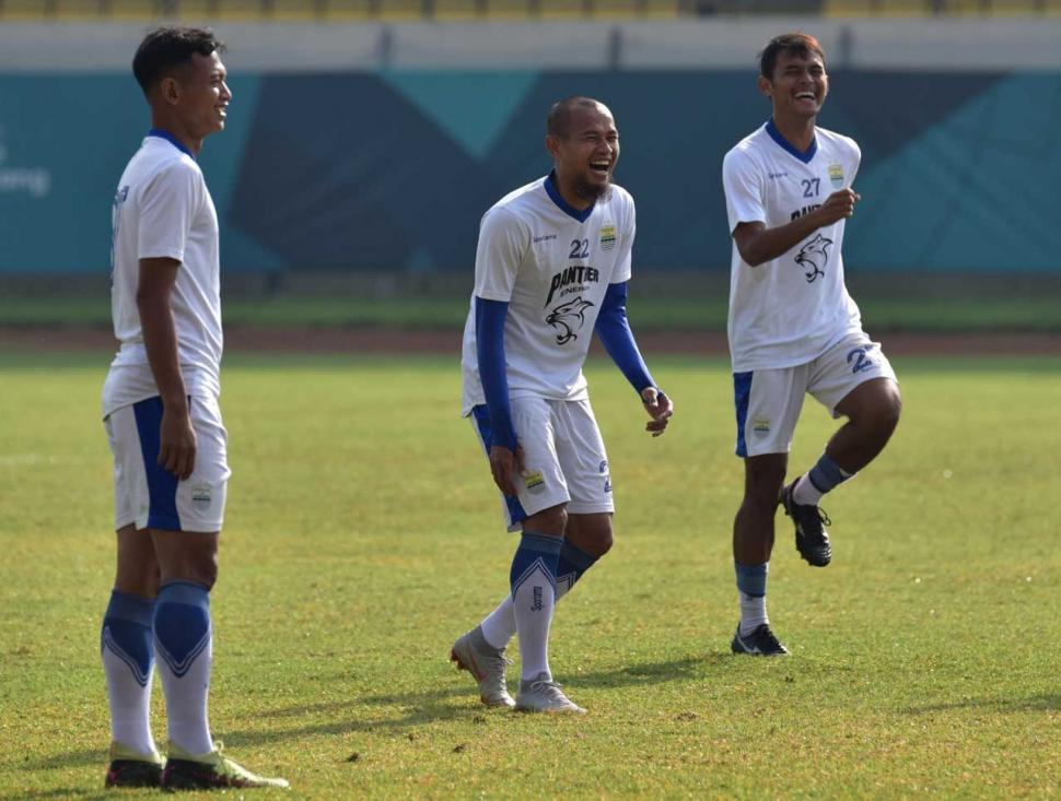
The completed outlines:
[[[137,309],[148,363],[162,398],[159,464],[184,480],[195,468],[196,436],[180,375],[177,333],[170,305],[179,268],[180,262],[176,259],[140,259]]]

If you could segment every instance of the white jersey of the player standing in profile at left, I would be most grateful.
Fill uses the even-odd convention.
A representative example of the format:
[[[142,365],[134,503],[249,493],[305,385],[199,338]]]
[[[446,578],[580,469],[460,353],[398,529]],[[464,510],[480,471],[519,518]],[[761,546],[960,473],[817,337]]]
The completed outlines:
[[[218,213],[195,158],[152,131],[129,161],[114,199],[110,310],[121,348],[103,387],[104,416],[159,394],[137,309],[140,259],[180,262],[170,296],[189,396],[221,392],[221,293]]]

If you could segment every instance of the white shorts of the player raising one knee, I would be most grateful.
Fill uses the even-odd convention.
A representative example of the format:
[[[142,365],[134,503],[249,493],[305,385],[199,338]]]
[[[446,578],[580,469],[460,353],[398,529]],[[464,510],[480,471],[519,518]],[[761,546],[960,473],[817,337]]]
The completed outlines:
[[[837,405],[860,384],[896,380],[881,344],[852,333],[813,362],[733,374],[739,457],[788,453],[807,393],[839,417]]]

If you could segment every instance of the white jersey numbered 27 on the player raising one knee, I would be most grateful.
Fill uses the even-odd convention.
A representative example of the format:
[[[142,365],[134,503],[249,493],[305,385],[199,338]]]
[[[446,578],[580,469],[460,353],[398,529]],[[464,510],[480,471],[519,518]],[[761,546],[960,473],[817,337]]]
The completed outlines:
[[[739,223],[785,225],[850,187],[862,157],[853,139],[823,128],[800,153],[767,122],[726,153],[722,166],[730,233]],[[843,220],[818,228],[772,261],[750,267],[733,244],[730,354],[733,370],[806,364],[861,331],[843,283]]]

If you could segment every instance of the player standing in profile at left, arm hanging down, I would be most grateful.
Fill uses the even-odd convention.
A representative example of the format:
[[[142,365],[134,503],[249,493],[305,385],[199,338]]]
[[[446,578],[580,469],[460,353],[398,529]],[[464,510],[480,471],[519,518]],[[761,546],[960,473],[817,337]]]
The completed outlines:
[[[229,467],[218,408],[218,215],[196,163],[232,93],[210,31],[149,33],[132,71],[152,128],[114,200],[112,309],[121,348],[103,388],[114,452],[117,575],[102,652],[113,742],[108,787],[287,787],[221,753],[207,721],[210,589]],[[151,735],[166,699],[168,758]]]

